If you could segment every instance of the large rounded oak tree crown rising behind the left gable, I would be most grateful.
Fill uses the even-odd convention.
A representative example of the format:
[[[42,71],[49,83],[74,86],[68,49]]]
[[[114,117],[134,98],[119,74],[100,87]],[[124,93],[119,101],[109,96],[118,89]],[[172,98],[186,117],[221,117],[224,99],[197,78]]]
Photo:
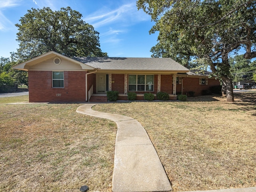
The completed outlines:
[[[18,58],[24,60],[50,50],[65,56],[102,56],[99,33],[82,19],[82,14],[70,7],[52,11],[49,7],[32,8],[16,24]]]

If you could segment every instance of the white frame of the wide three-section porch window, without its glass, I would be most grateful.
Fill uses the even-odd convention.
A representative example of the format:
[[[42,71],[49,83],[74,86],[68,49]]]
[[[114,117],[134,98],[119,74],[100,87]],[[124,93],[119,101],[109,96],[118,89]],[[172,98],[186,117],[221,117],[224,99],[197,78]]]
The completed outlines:
[[[130,83],[130,76],[136,76],[136,83]],[[138,76],[144,76],[144,83],[138,84]],[[147,76],[153,76],[153,80],[151,84],[147,83]],[[136,86],[135,90],[130,90],[131,86]],[[147,90],[147,87],[149,89],[149,86],[152,85],[152,90]],[[138,86],[144,86],[144,90],[138,90]],[[128,74],[128,91],[129,92],[154,92],[154,74]]]

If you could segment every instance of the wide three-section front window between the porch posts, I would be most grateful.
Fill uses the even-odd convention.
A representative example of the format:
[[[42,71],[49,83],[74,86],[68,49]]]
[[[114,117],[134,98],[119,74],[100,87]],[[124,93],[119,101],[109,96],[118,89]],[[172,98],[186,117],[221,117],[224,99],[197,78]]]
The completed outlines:
[[[129,91],[153,91],[154,75],[129,75]]]

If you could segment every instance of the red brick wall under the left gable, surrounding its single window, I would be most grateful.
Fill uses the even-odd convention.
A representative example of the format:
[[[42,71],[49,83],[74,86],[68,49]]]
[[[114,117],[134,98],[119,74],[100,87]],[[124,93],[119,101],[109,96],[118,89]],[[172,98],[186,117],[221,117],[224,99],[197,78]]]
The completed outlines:
[[[29,71],[29,101],[84,102],[85,74],[85,71],[65,71],[64,88],[52,88],[51,71]]]

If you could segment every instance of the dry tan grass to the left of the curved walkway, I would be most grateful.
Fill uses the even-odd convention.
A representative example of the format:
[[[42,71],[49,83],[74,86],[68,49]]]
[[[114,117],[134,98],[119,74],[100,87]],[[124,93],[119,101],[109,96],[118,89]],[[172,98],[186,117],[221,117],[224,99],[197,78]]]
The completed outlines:
[[[79,104],[5,105],[19,100],[0,101],[0,191],[111,191],[114,122]]]

